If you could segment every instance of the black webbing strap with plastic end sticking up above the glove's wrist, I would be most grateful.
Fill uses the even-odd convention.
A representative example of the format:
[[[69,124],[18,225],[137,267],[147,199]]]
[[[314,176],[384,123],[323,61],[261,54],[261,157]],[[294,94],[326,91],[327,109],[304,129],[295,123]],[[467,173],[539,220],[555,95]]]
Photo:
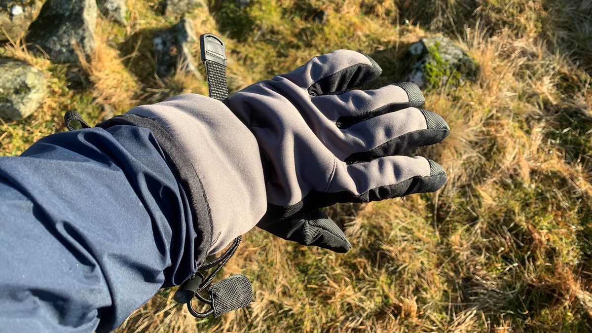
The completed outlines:
[[[228,97],[226,82],[226,47],[214,34],[200,36],[201,60],[205,65],[210,97],[223,101]]]

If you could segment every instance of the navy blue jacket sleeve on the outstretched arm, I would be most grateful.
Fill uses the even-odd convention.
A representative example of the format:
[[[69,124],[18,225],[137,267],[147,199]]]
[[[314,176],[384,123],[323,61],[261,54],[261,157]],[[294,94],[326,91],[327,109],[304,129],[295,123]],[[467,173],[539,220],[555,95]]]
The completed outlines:
[[[150,130],[47,136],[0,158],[0,328],[110,331],[194,267],[187,196]]]

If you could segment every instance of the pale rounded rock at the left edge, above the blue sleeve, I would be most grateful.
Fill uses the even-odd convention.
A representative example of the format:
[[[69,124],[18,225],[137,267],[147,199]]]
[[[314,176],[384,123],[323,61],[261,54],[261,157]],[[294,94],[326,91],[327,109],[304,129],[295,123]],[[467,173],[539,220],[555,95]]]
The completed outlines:
[[[47,95],[43,73],[33,66],[0,58],[0,118],[20,120],[37,110]]]

